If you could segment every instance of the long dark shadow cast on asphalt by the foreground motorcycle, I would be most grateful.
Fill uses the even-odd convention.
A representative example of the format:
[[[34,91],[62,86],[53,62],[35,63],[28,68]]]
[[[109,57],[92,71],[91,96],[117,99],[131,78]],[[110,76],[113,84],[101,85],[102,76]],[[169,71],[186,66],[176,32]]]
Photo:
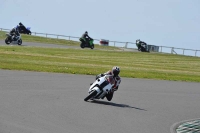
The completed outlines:
[[[102,105],[110,105],[110,106],[121,107],[121,108],[133,108],[133,109],[147,111],[145,109],[141,109],[141,108],[137,108],[137,107],[131,107],[131,106],[126,105],[126,104],[117,104],[117,103],[107,102],[107,101],[93,100],[93,101],[90,101],[90,103],[96,103],[96,104],[102,104]]]

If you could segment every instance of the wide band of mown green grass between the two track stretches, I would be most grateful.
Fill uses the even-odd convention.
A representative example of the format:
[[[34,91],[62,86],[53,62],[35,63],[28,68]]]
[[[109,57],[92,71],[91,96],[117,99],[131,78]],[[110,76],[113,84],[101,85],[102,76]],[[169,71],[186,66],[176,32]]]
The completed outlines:
[[[0,69],[200,82],[200,58],[171,54],[0,46]]]

